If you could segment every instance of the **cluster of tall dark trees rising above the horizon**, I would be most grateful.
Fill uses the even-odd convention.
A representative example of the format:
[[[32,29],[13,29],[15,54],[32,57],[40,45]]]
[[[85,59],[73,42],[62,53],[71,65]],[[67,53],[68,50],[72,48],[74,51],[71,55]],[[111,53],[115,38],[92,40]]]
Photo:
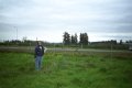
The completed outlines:
[[[79,41],[78,41],[78,36],[77,36],[76,33],[74,35],[73,34],[70,35],[68,32],[64,32],[63,43],[64,43],[64,45],[70,45],[70,44],[88,45],[88,43],[89,43],[88,34],[87,33],[80,33]]]

